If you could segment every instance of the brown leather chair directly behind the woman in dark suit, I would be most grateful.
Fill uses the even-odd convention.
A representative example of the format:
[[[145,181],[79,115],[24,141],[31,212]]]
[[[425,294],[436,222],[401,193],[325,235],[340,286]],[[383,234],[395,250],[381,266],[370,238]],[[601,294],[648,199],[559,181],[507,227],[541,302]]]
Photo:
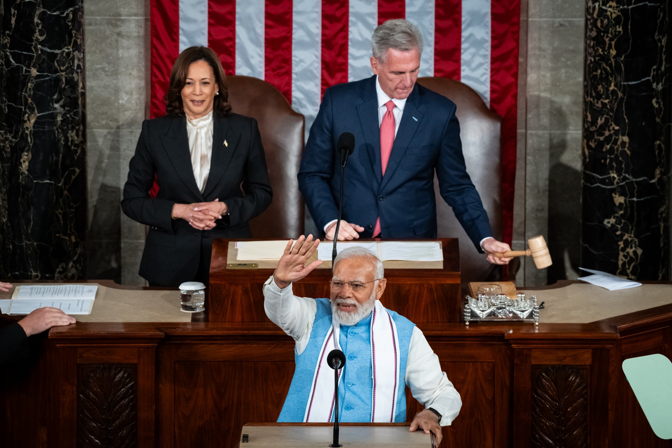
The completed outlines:
[[[236,114],[257,119],[266,154],[273,201],[250,221],[253,238],[298,238],[304,231],[298,167],[304,146],[305,118],[273,85],[247,76],[226,77],[228,100]]]

